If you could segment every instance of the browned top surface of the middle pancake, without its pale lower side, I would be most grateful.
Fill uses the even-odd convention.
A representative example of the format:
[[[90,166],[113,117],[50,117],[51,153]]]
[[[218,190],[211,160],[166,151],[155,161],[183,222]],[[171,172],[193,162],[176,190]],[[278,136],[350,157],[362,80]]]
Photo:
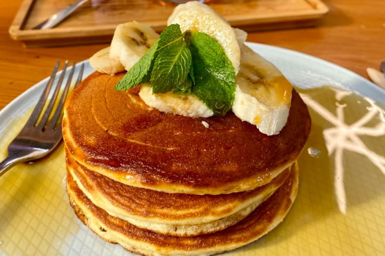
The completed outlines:
[[[127,216],[147,221],[190,225],[219,220],[263,200],[283,184],[291,169],[295,172],[292,165],[268,184],[253,190],[222,195],[192,195],[170,194],[114,181],[81,166],[68,153],[67,168],[71,169],[71,173],[81,182],[87,193],[101,195],[103,200],[99,196],[95,197],[101,200],[101,203],[94,202],[99,207],[109,201],[126,212]]]

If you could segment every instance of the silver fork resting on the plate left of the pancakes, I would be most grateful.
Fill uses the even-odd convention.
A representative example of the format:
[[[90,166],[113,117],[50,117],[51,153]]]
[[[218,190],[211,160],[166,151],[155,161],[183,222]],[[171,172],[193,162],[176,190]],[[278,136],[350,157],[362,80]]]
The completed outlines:
[[[24,125],[22,131],[9,144],[8,155],[2,162],[0,162],[0,177],[17,163],[27,162],[47,156],[62,140],[62,110],[71,85],[72,76],[75,71],[75,63],[72,65],[72,69],[70,70],[56,109],[53,110],[62,87],[68,61],[64,63],[62,74],[60,75],[56,86],[53,86],[59,65],[60,61],[57,61],[47,82],[47,86],[33,109],[31,116],[27,120],[27,123]],[[76,87],[82,80],[83,71],[84,64],[82,64],[80,68],[74,87]],[[51,90],[53,93],[51,99],[48,99]],[[45,105],[47,105],[47,107],[44,110]]]

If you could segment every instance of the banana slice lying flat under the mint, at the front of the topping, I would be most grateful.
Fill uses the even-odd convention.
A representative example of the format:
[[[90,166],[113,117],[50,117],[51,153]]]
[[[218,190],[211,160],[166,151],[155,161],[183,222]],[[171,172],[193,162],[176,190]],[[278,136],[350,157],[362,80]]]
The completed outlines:
[[[172,92],[152,94],[148,83],[143,83],[139,92],[140,98],[152,108],[162,112],[188,117],[209,117],[214,113],[194,94],[181,95]]]

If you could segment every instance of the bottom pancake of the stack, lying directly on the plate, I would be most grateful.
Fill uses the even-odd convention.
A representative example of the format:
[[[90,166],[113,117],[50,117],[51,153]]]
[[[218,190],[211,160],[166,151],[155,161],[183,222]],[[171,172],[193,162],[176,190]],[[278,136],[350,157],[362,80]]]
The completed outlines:
[[[233,250],[262,237],[286,216],[298,190],[298,169],[250,215],[218,232],[194,237],[175,237],[138,228],[112,217],[95,206],[67,176],[67,193],[76,215],[93,232],[127,250],[146,255],[206,255]]]

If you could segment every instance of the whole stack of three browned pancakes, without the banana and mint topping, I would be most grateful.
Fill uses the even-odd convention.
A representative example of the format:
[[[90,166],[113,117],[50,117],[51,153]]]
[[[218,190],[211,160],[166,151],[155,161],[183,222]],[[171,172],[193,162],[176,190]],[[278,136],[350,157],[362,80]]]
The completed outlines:
[[[276,136],[233,113],[162,113],[95,72],[67,100],[67,193],[76,215],[108,242],[147,254],[214,254],[277,226],[298,188],[296,159],[310,116],[293,91]],[[208,125],[207,125],[208,124]]]

